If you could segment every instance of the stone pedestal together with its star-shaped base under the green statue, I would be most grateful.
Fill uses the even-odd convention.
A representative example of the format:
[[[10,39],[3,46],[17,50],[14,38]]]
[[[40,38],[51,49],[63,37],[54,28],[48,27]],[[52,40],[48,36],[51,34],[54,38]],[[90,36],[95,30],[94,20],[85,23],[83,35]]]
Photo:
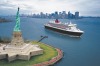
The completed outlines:
[[[32,43],[24,43],[20,31],[13,32],[10,44],[0,46],[0,59],[7,58],[8,61],[16,59],[29,60],[31,56],[43,54],[43,49]]]

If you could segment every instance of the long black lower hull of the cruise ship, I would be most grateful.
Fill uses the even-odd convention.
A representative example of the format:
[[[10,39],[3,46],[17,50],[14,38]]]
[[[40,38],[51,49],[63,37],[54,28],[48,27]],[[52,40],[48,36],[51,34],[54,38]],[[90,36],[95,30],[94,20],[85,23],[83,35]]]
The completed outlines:
[[[49,27],[45,25],[46,29],[50,29],[59,33],[63,33],[63,34],[68,34],[68,35],[73,35],[73,36],[81,36],[83,33],[80,32],[70,32],[70,31],[65,31],[65,30],[61,30],[61,29],[57,29],[57,28],[53,28],[53,27]]]

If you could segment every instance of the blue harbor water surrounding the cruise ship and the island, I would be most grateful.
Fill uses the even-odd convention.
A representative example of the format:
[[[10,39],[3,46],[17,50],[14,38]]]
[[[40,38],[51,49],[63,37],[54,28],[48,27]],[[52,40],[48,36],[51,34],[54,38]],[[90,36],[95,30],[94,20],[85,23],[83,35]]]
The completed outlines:
[[[0,23],[0,36],[11,37],[15,21]],[[23,37],[39,40],[40,36],[48,36],[42,42],[60,48],[64,52],[63,59],[54,66],[100,66],[100,18],[84,18],[71,21],[85,33],[81,38],[69,37],[44,28],[50,19],[21,18]],[[62,22],[70,20],[60,19]]]

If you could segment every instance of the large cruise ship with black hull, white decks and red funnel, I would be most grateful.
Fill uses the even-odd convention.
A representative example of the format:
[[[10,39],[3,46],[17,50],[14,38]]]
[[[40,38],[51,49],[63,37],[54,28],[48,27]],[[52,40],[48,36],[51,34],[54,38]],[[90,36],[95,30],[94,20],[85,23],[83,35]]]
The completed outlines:
[[[77,24],[72,24],[71,22],[62,23],[58,19],[55,21],[50,21],[44,26],[46,29],[76,37],[80,37],[84,33],[84,31],[77,28]]]

